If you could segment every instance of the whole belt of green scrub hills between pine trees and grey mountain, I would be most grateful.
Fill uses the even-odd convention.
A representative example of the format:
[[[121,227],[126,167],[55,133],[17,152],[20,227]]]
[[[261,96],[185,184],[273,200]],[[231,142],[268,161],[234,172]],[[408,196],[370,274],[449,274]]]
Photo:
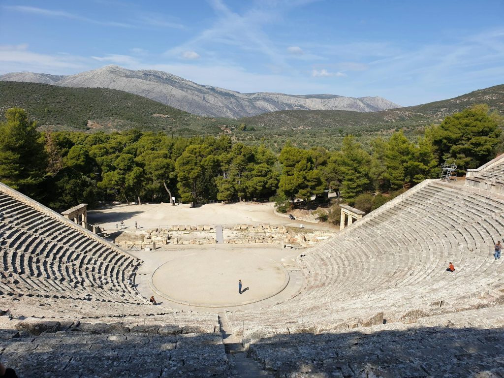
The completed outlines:
[[[504,85],[477,90],[449,100],[384,110],[285,110],[241,119],[196,116],[145,97],[113,89],[70,88],[47,84],[0,82],[0,111],[18,106],[37,120],[42,130],[161,131],[174,136],[230,134],[249,145],[279,152],[287,141],[301,148],[334,151],[343,137],[356,136],[365,148],[376,136],[394,131],[415,139],[426,126],[474,104],[486,103],[504,115]],[[3,116],[3,115],[2,115]],[[0,118],[1,119],[1,118]]]

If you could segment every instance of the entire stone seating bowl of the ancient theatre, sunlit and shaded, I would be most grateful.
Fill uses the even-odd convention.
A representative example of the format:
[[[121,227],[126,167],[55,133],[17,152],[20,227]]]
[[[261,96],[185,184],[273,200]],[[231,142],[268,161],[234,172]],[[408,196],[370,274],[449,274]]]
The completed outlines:
[[[425,180],[282,262],[282,300],[182,311],[140,295],[138,257],[0,184],[0,358],[25,378],[501,378],[502,235],[504,195]]]

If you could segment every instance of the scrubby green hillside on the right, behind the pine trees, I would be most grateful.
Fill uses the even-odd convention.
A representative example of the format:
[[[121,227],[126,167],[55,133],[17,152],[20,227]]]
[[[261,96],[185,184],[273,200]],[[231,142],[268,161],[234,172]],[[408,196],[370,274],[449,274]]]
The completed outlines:
[[[287,110],[240,118],[247,127],[258,130],[253,137],[241,135],[239,140],[262,139],[269,147],[282,145],[290,139],[300,146],[338,146],[347,134],[366,138],[390,135],[403,130],[405,135],[422,134],[432,123],[440,123],[447,116],[475,104],[487,104],[490,111],[504,115],[504,85],[473,91],[448,100],[427,104],[360,113],[344,110]]]

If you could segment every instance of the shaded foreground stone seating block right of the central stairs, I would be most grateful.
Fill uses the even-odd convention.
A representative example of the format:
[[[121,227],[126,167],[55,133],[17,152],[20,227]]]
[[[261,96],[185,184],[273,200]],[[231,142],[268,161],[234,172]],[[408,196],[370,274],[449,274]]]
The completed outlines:
[[[479,315],[459,325],[461,313],[432,317],[437,323],[429,327],[382,325],[321,335],[274,335],[251,344],[250,353],[279,378],[501,377],[504,307],[474,312]],[[492,317],[493,324],[485,323]]]

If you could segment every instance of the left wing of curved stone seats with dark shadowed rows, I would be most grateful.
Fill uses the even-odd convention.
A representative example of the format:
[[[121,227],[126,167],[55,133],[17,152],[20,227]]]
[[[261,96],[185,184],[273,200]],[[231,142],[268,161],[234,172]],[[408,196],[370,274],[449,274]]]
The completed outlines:
[[[0,183],[0,295],[144,303],[140,261]]]

